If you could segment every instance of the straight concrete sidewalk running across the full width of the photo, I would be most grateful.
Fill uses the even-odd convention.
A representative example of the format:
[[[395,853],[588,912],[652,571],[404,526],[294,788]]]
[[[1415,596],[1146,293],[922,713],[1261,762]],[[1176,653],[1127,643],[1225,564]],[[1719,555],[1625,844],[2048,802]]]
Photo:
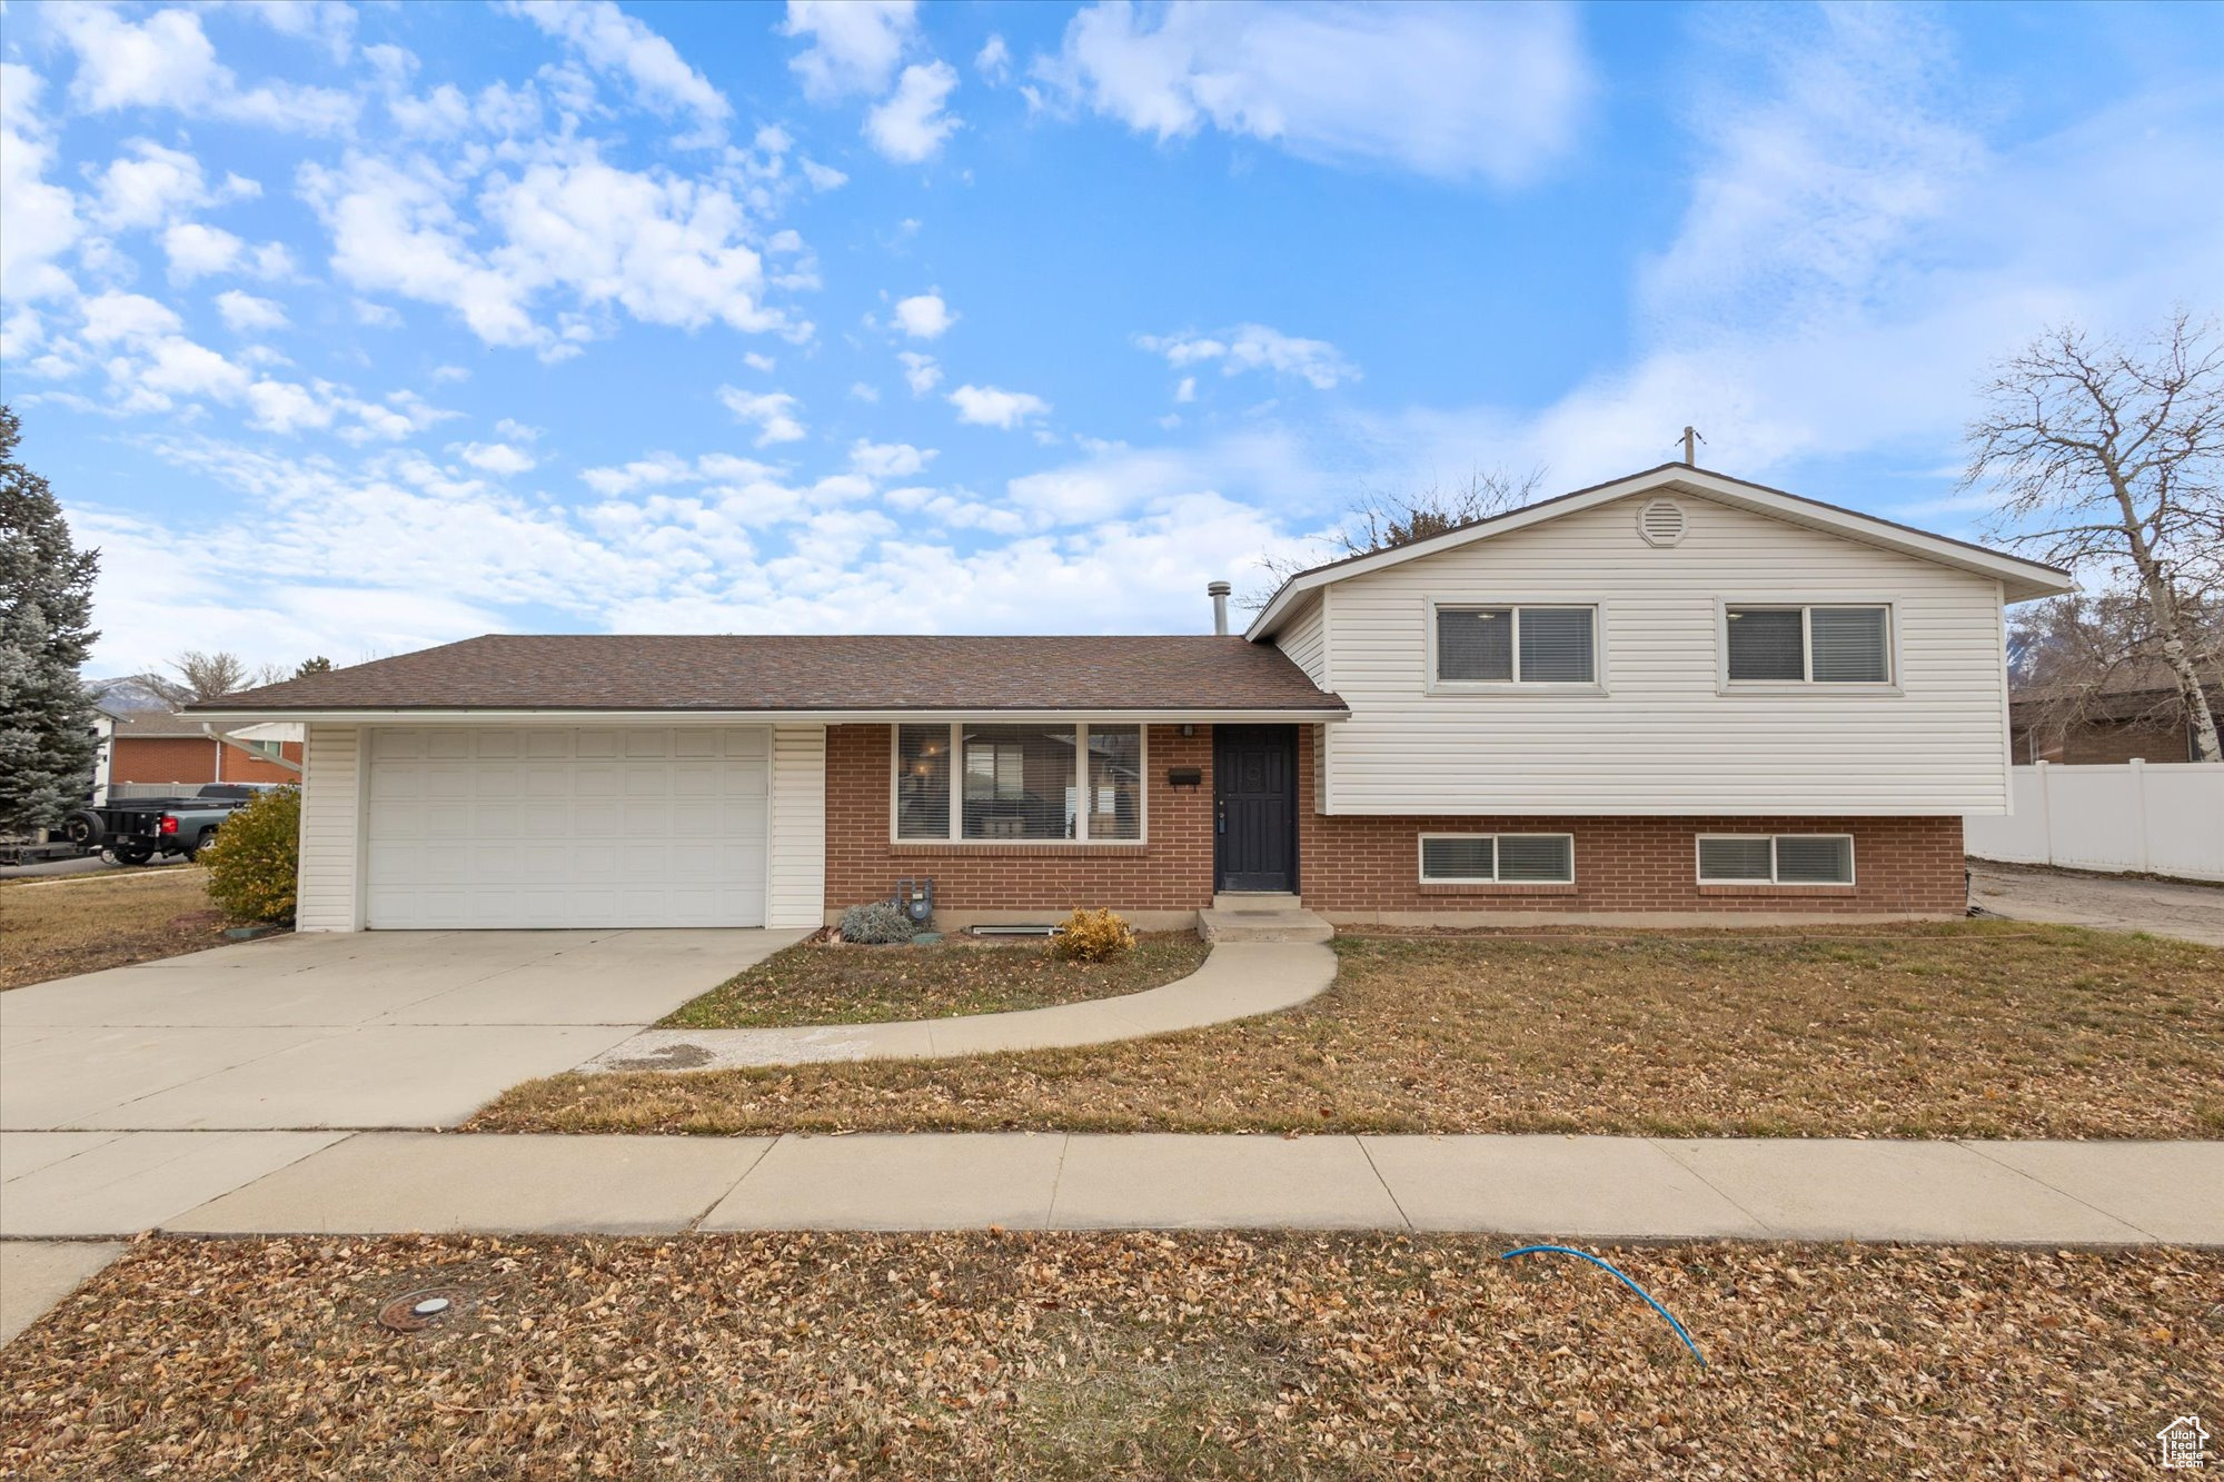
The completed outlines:
[[[149,1148],[73,1137],[7,1137],[0,1235],[994,1224],[2224,1246],[2224,1142],[167,1133]]]

